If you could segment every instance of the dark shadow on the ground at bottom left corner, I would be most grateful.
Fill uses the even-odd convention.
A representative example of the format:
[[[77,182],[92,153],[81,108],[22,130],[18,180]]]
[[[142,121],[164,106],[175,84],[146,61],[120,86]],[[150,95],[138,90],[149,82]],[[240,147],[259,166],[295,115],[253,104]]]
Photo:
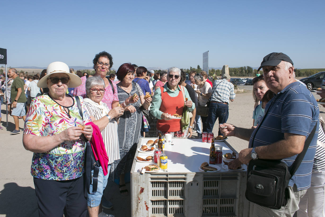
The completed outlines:
[[[31,216],[38,208],[35,189],[6,183],[0,192],[0,214],[6,217]]]

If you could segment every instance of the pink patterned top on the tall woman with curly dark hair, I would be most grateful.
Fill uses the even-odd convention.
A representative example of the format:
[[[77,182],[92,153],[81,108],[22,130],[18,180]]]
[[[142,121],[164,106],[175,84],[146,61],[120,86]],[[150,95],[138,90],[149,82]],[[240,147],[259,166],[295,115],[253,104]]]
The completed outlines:
[[[86,76],[81,77],[81,85],[79,87],[74,88],[73,90],[73,94],[75,94],[76,96],[82,96],[83,98],[87,98],[87,94],[86,94]],[[110,84],[105,88],[105,93],[104,93],[104,97],[102,99],[102,102],[105,102],[108,106],[109,109],[112,109],[112,102],[113,101],[119,101],[119,98],[117,96],[117,87],[116,84],[114,82],[113,83],[113,87],[114,87],[114,94],[113,94],[113,90],[112,90],[112,86],[110,86]]]

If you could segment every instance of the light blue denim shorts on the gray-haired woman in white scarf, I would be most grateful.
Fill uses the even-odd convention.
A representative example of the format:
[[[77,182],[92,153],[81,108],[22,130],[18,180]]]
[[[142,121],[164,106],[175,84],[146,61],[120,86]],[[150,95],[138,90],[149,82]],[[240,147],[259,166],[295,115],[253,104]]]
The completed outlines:
[[[103,192],[107,185],[107,180],[110,175],[110,164],[107,168],[107,175],[104,176],[103,169],[100,167],[98,172],[98,184],[97,184],[97,192],[94,195],[90,195],[87,193],[87,206],[88,207],[97,207],[100,204],[101,197],[103,196]],[[94,170],[91,170],[91,176],[93,176]],[[93,183],[90,184],[89,192],[93,190]]]

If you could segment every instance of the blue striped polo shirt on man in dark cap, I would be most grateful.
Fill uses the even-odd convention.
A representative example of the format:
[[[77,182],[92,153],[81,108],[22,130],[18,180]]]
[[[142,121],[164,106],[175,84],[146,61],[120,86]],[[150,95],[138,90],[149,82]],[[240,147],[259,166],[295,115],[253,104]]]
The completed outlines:
[[[289,84],[275,95],[266,104],[265,111],[267,111],[265,119],[261,127],[253,131],[249,141],[249,147],[252,146],[253,136],[256,130],[253,147],[268,145],[282,140],[284,139],[284,133],[304,135],[307,138],[315,124],[318,126],[319,109],[317,102],[311,92],[299,82]],[[318,129],[316,129],[301,165],[292,176],[289,186],[293,187],[295,183],[298,190],[304,190],[310,187],[317,136]],[[281,159],[288,165],[289,171],[296,157],[297,155],[294,155]]]

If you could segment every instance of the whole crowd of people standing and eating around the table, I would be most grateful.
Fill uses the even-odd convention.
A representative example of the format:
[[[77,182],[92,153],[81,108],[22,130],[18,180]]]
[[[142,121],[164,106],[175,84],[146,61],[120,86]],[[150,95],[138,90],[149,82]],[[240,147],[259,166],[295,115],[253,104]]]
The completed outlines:
[[[113,216],[100,212],[101,207],[113,207],[104,190],[109,178],[119,179],[121,195],[128,195],[125,175],[130,173],[139,139],[148,132],[149,106],[157,118],[157,135],[190,138],[197,132],[201,137],[202,132],[213,131],[218,119],[218,135],[249,141],[229,169],[256,159],[281,159],[290,168],[316,126],[290,179],[291,199],[279,210],[254,204],[253,216],[325,215],[325,134],[317,102],[295,79],[287,55],[264,57],[258,69],[263,74],[253,79],[253,126],[248,129],[227,123],[228,105],[236,96],[228,74],[210,81],[205,71],[191,71],[186,82],[185,72],[177,67],[155,73],[131,63],[109,74],[113,58],[105,51],[96,54],[93,65],[94,75],[74,73],[63,62],[52,62],[33,76],[10,68],[8,88],[2,86],[3,101],[15,121],[11,134],[20,132],[19,117],[26,120],[23,145],[33,152],[31,173],[40,216],[62,216],[64,210],[68,216]],[[325,98],[325,90],[318,94]],[[190,114],[187,123],[173,118],[185,113]],[[85,169],[87,142],[99,170]],[[85,190],[88,172],[98,178]]]

